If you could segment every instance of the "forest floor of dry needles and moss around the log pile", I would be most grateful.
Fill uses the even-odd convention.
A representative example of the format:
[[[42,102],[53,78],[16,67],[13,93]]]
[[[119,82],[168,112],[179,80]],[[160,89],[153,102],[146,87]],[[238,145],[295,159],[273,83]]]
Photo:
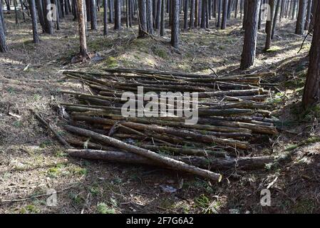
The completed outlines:
[[[103,60],[73,64],[78,36],[71,18],[61,21],[61,30],[53,36],[41,34],[38,45],[31,42],[30,21],[16,25],[11,14],[6,24],[10,51],[0,54],[0,213],[320,212],[320,107],[300,108],[310,38],[297,53],[304,36],[294,35],[294,21],[282,21],[267,53],[262,52],[265,34],[259,31],[257,61],[250,68],[277,71],[275,78],[265,80],[279,83],[269,102],[283,120],[279,135],[262,137],[264,147],[253,153],[291,159],[265,170],[237,170],[237,176],[224,177],[220,184],[153,167],[66,157],[29,109],[60,129],[56,105],[71,98],[59,90],[83,90],[81,83],[63,77],[66,69],[122,66],[212,73],[213,68],[219,75],[237,74],[244,35],[239,20],[232,19],[224,31],[182,31],[179,51],[170,47],[169,37],[136,38],[136,27],[110,29],[110,36],[103,37],[100,26],[88,31],[88,49]],[[177,191],[163,192],[165,186]],[[260,191],[267,187],[272,206],[262,207]],[[47,207],[47,196],[41,197],[48,189],[58,192],[56,207]]]

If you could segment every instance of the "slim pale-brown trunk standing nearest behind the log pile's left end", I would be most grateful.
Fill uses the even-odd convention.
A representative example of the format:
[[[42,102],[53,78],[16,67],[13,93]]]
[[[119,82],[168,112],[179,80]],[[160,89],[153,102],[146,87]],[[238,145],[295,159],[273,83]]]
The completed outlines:
[[[81,56],[88,56],[86,41],[86,22],[84,17],[83,1],[84,0],[77,0],[80,54]]]

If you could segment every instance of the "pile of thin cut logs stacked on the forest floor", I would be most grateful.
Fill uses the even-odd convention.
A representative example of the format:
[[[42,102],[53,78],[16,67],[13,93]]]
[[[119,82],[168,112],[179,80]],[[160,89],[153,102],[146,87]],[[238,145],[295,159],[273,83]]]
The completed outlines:
[[[66,137],[71,156],[164,167],[217,182],[222,171],[259,169],[274,162],[272,156],[254,156],[254,140],[277,134],[277,119],[267,103],[272,92],[260,84],[272,72],[217,76],[115,68],[63,74],[81,81],[87,90],[61,91],[77,99],[61,103],[68,119],[63,128],[71,133]],[[160,98],[141,101],[137,94],[141,87]],[[161,99],[170,91],[190,92],[192,98],[197,94],[197,100]],[[129,95],[123,99],[125,92]],[[149,107],[159,117],[139,117],[139,108],[135,115],[123,115],[129,97],[131,104],[142,105],[143,110]],[[158,104],[165,104],[162,108],[168,111],[158,109]],[[197,123],[186,124],[190,116],[177,115],[181,107],[197,110]]]

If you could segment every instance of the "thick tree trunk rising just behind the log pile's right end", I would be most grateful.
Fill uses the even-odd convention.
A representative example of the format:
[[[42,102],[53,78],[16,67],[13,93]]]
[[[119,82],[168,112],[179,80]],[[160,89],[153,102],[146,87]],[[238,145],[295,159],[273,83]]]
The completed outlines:
[[[252,66],[256,56],[260,1],[261,0],[250,0],[248,2],[248,17],[240,66],[242,70]]]

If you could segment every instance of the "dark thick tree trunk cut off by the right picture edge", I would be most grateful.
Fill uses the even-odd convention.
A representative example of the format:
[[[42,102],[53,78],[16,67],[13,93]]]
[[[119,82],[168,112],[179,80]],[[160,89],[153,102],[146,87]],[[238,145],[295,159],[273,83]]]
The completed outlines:
[[[318,14],[314,15],[314,37],[309,53],[309,69],[306,75],[306,86],[302,103],[304,108],[320,100],[320,1],[316,1]]]

